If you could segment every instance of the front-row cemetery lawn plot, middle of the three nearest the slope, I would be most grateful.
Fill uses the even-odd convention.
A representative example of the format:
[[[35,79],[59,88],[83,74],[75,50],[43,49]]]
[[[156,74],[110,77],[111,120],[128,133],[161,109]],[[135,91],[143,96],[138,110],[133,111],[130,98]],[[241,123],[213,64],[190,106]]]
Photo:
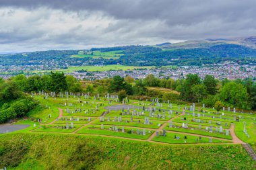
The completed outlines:
[[[137,134],[137,128],[129,128],[124,127],[125,132],[121,132],[121,129],[123,126],[117,126],[117,128],[120,128],[119,132],[109,130],[112,126],[104,125],[104,129],[101,129],[101,126],[99,125],[88,125],[84,128],[78,130],[77,134],[102,134],[107,136],[119,136],[119,137],[125,137],[125,138],[138,138],[138,139],[148,139],[150,135],[154,132],[153,130],[146,130],[146,135],[138,135]],[[133,129],[133,134],[130,133],[130,130]],[[142,130],[142,129],[139,129]],[[150,133],[149,133],[150,131]]]

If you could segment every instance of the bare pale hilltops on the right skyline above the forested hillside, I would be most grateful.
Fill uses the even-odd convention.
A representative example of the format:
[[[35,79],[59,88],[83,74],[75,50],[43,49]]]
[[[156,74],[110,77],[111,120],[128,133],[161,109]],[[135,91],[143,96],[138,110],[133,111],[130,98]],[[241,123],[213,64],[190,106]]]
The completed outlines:
[[[163,44],[161,48],[166,49],[190,49],[190,48],[210,48],[220,44],[236,44],[248,48],[256,49],[256,36],[240,37],[240,38],[216,38],[205,40],[188,40],[174,44]]]

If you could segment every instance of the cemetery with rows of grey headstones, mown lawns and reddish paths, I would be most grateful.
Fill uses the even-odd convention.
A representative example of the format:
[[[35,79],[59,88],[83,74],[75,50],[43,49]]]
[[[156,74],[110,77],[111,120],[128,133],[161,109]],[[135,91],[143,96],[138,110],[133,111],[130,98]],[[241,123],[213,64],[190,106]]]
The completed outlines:
[[[119,102],[117,95],[33,93],[44,108],[29,132],[71,133],[145,140],[162,144],[244,143],[255,140],[256,116],[195,103],[182,105],[157,98]],[[234,139],[234,136],[238,138]]]

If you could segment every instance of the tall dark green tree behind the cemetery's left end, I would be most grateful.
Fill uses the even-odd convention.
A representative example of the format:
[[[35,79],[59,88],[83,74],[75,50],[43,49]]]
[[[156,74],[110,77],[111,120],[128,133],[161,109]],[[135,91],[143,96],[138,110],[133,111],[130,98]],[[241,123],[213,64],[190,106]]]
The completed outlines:
[[[51,91],[55,91],[56,95],[61,91],[67,90],[67,81],[64,73],[51,72]]]

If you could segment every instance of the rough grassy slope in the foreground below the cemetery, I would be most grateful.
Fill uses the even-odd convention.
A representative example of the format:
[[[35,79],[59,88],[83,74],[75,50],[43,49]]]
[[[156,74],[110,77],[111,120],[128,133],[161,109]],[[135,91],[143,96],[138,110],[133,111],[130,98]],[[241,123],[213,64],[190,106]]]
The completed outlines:
[[[0,167],[14,166],[7,169],[256,168],[241,145],[167,146],[58,134],[0,135],[0,160]]]

